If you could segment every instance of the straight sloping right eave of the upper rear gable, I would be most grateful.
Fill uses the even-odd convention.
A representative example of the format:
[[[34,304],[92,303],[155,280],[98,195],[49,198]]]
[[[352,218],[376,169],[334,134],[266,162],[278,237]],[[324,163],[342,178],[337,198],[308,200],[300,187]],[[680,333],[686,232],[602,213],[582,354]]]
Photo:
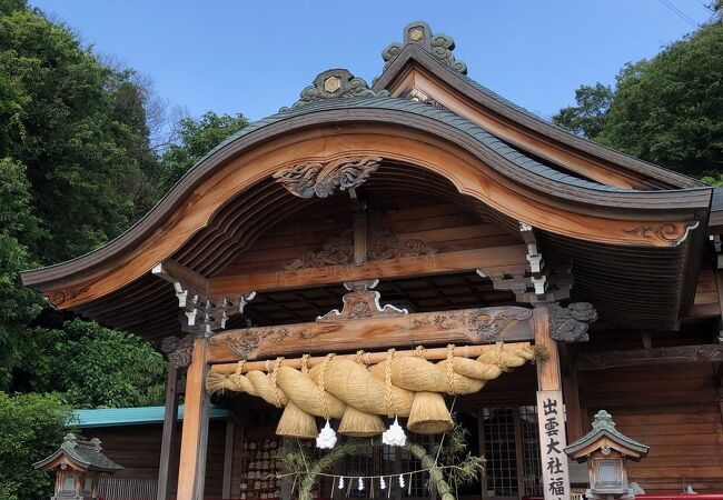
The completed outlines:
[[[487,128],[511,144],[581,176],[611,186],[635,189],[704,186],[690,177],[605,148],[547,123],[468,77],[449,69],[416,43],[407,43],[403,48],[376,80],[374,89],[388,90],[395,97],[405,96],[417,84],[414,78],[409,78],[414,71],[422,72],[444,89],[442,93],[429,96],[439,104]],[[483,116],[486,119],[481,119]],[[496,124],[493,126],[493,122]],[[561,159],[543,144],[557,151],[565,150],[571,154],[567,159]]]

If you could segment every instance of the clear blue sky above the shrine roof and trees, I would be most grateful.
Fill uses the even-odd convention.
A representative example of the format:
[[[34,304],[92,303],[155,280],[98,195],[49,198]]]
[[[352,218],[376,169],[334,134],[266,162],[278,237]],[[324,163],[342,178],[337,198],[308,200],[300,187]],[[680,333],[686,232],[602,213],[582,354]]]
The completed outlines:
[[[169,103],[251,119],[293,103],[329,68],[370,82],[382,50],[415,20],[454,37],[472,78],[548,118],[580,84],[613,82],[711,14],[710,0],[30,2],[150,77]]]

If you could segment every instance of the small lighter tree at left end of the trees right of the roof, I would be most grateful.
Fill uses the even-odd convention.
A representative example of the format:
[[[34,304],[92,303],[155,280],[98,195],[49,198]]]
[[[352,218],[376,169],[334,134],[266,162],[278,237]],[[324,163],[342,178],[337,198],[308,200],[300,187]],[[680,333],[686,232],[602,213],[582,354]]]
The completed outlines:
[[[575,90],[577,106],[561,109],[553,123],[585,139],[595,139],[605,127],[613,96],[613,89],[600,82],[582,86]]]

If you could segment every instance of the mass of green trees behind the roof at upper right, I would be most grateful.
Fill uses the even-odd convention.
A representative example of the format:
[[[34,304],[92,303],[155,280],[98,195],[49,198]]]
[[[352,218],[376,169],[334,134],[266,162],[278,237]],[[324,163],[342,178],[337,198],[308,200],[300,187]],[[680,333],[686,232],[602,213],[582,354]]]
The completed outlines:
[[[723,169],[723,24],[703,27],[650,61],[626,64],[614,91],[576,91],[553,121],[574,133],[690,176]],[[610,90],[610,89],[607,89]]]

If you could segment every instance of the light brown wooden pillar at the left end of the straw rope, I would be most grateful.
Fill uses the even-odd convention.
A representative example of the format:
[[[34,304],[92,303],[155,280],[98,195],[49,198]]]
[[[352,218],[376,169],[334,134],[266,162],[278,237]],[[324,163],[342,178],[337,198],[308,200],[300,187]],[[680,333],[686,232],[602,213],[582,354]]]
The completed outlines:
[[[177,500],[201,500],[206,479],[206,448],[208,442],[208,372],[207,341],[194,341],[194,358],[186,372],[186,400],[178,466]]]

